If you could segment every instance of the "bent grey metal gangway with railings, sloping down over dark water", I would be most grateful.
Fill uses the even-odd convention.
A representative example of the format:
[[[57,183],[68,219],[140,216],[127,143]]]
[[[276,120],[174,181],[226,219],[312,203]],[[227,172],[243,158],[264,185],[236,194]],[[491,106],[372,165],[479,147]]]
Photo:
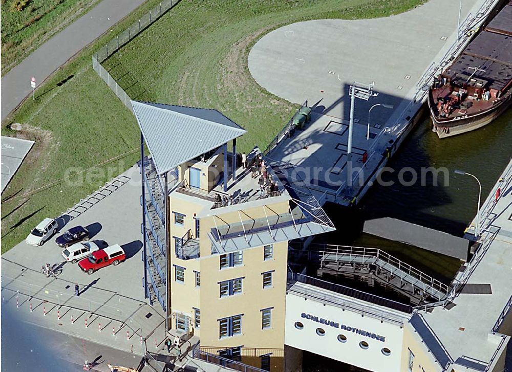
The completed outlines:
[[[320,251],[320,268],[343,272],[348,270],[366,271],[375,279],[386,281],[402,289],[412,286],[422,297],[430,296],[441,301],[451,288],[432,276],[412,267],[406,262],[378,249],[350,246],[324,245]]]

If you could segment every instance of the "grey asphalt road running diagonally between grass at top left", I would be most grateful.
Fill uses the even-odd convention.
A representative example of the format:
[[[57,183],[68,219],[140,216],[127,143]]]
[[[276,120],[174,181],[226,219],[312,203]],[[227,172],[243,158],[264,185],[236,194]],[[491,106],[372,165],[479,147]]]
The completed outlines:
[[[2,120],[32,92],[31,77],[35,77],[39,85],[68,59],[144,2],[103,0],[9,71],[2,77]]]

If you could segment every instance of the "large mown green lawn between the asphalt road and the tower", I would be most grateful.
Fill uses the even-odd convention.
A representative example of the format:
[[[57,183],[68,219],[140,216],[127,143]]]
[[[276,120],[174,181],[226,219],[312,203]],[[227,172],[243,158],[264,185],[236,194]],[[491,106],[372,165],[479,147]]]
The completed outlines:
[[[247,151],[254,144],[265,146],[296,106],[267,93],[250,76],[247,55],[262,35],[298,20],[387,16],[423,2],[182,0],[104,66],[134,99],[217,108],[248,130],[239,142],[239,149]],[[96,45],[104,45],[156,4],[146,2]],[[17,135],[36,144],[3,194],[2,252],[42,218],[58,215],[106,182],[109,177],[101,170],[118,174],[138,158],[134,152],[95,169],[97,177],[89,182],[60,182],[34,192],[77,170],[72,167],[88,168],[138,146],[135,118],[92,70],[93,48],[41,86],[35,103],[28,100],[3,123],[3,135],[15,135],[8,124],[22,123]]]

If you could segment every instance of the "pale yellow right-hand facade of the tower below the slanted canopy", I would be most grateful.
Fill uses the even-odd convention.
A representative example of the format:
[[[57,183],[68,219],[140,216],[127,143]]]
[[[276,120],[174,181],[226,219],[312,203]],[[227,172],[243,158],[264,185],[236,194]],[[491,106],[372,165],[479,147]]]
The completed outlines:
[[[263,247],[243,251],[243,265],[220,270],[219,255],[201,259],[202,346],[284,347],[287,242],[274,244],[273,259]],[[263,289],[262,273],[272,271],[272,287]],[[243,293],[220,298],[219,282],[243,277]],[[262,330],[262,309],[272,309],[270,329]],[[242,334],[219,338],[219,319],[244,314]]]

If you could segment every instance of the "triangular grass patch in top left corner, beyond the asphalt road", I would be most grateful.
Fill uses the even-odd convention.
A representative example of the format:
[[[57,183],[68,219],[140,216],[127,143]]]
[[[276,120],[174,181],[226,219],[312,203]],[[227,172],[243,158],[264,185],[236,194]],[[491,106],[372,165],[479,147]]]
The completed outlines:
[[[2,75],[100,0],[2,0]]]

